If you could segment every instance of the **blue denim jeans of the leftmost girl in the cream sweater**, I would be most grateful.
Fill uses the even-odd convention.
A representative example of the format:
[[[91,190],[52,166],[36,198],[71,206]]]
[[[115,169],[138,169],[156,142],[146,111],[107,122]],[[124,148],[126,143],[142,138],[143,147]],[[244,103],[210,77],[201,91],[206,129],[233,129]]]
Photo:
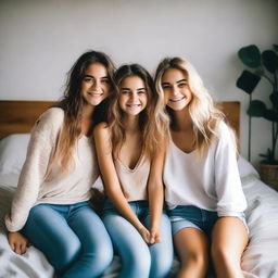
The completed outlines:
[[[113,260],[109,233],[88,202],[38,204],[22,232],[61,277],[99,277]]]

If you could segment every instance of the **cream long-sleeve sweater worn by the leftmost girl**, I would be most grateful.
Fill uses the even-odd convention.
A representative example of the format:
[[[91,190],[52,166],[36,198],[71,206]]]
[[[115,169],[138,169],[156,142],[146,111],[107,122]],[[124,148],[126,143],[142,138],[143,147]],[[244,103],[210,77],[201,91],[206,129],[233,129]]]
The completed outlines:
[[[18,179],[11,211],[5,216],[9,231],[21,230],[30,208],[40,203],[74,204],[88,201],[91,186],[99,176],[93,141],[86,136],[78,139],[73,151],[74,164],[63,174],[56,164],[48,173],[64,122],[60,108],[47,110],[31,130],[26,161]]]

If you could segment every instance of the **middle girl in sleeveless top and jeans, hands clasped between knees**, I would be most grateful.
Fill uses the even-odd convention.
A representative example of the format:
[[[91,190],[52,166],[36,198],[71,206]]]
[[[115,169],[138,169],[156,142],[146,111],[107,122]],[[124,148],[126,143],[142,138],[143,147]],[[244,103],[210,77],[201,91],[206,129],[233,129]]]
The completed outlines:
[[[109,122],[94,129],[109,197],[102,220],[122,261],[122,278],[166,277],[173,261],[170,223],[163,212],[160,112],[150,74],[119,67]],[[156,125],[156,124],[157,125]]]

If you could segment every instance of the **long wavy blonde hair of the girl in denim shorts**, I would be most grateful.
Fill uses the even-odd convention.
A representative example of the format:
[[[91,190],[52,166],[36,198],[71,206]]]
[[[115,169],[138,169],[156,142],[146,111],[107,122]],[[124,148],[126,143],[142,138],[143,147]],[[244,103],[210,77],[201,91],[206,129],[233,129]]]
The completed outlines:
[[[179,70],[187,76],[188,86],[192,93],[192,100],[188,108],[193,123],[194,146],[199,150],[201,156],[203,156],[208,149],[213,137],[219,137],[218,125],[225,121],[225,115],[215,106],[212,97],[204,87],[195,68],[181,58],[166,58],[157,66],[154,79],[155,89],[160,98],[159,110],[162,110],[163,106],[165,106],[162,77],[168,68]],[[166,108],[164,112],[169,116],[169,125],[166,128],[170,129],[172,110]],[[231,136],[233,146],[237,150],[236,137],[232,130]]]

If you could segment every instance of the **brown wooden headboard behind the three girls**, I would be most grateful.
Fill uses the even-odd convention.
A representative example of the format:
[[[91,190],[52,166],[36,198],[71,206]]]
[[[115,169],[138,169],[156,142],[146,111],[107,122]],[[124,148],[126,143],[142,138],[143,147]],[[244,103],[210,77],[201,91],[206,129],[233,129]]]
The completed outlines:
[[[11,134],[29,132],[39,115],[54,101],[0,101],[0,139]],[[218,102],[227,122],[239,138],[240,102]]]

